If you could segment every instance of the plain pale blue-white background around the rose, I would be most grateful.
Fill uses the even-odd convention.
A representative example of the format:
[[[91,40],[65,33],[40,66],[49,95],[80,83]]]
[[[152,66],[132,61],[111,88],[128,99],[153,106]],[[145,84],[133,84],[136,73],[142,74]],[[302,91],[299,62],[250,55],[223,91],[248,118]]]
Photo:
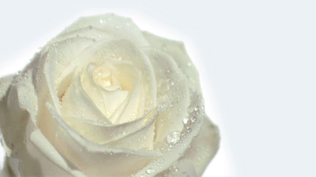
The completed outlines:
[[[222,137],[204,177],[316,177],[313,0],[1,1],[0,75],[79,16],[106,12],[185,42]]]

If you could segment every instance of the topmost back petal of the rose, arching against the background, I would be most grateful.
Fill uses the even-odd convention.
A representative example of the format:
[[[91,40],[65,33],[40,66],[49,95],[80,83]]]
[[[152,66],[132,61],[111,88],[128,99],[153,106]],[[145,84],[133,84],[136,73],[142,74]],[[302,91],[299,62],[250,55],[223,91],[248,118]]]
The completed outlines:
[[[85,27],[101,29],[105,33],[118,39],[132,41],[137,46],[149,45],[141,30],[138,29],[130,18],[121,17],[115,14],[81,17],[66,28],[60,35]]]

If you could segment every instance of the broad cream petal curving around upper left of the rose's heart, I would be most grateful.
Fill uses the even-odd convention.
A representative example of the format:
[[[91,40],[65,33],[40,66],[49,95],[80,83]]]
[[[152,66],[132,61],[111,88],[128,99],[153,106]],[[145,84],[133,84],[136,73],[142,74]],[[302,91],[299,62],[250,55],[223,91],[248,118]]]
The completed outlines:
[[[70,38],[48,46],[43,64],[44,81],[50,92],[49,96],[56,110],[60,113],[60,98],[70,84],[72,73],[77,65],[74,63],[76,55],[90,46],[94,41],[86,38]],[[39,75],[39,74],[38,74]],[[56,96],[58,95],[58,96]]]

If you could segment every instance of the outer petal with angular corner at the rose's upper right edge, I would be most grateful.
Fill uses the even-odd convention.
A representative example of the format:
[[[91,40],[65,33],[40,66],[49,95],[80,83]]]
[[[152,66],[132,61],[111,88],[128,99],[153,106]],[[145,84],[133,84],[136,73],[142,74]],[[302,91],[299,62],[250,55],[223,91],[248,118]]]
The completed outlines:
[[[197,68],[190,59],[185,49],[184,43],[180,41],[166,39],[147,31],[143,31],[143,35],[152,47],[157,48],[170,55],[177,63],[180,70],[188,78],[190,89],[200,93],[200,84]]]

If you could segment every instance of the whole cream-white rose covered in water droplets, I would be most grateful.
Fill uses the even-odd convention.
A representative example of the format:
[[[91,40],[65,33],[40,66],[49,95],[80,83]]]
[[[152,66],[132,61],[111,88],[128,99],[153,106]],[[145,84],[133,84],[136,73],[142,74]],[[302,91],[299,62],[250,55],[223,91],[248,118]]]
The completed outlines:
[[[0,98],[16,176],[197,177],[218,148],[183,44],[113,14],[65,29]]]

